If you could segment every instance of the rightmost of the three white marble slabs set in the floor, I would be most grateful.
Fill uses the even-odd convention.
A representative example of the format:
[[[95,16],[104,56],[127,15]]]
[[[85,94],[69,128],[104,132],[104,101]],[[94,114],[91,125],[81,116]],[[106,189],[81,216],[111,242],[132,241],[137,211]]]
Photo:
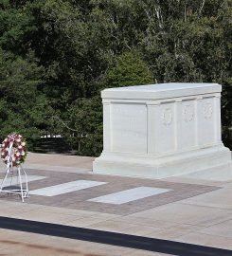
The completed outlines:
[[[127,191],[115,192],[99,196],[96,198],[89,199],[88,201],[105,203],[105,204],[114,204],[121,205],[134,200],[142,199],[148,196],[159,194],[162,192],[170,192],[170,190],[152,188],[152,187],[138,187]]]

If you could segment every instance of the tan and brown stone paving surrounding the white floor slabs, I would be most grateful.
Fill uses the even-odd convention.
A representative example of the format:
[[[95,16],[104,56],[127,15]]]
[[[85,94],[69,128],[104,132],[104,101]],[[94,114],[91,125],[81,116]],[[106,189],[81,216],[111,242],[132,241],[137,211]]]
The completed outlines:
[[[19,196],[2,193],[0,194],[0,215],[232,249],[231,182],[207,182],[181,177],[155,180],[92,174],[89,171],[94,158],[78,157],[77,160],[75,157],[77,156],[66,158],[66,155],[38,155],[36,158],[36,155],[32,154],[29,159],[31,169],[26,169],[27,174],[47,178],[29,182],[29,190],[38,190],[75,180],[106,182],[106,184],[49,197],[31,194],[25,203],[21,202]],[[43,165],[40,162],[43,162]],[[54,162],[57,166],[53,165]],[[65,166],[66,169],[63,168]],[[3,174],[4,168],[0,168],[0,178]],[[170,191],[121,205],[88,201],[106,194],[138,187]],[[43,256],[59,255],[58,248],[64,249],[61,255],[79,255],[78,253],[82,253],[80,255],[85,255],[84,253],[114,255],[109,254],[109,251],[116,251],[116,255],[122,256],[165,255],[7,229],[0,229],[0,247],[3,247],[0,254],[7,254],[4,249],[8,249],[8,246],[1,242],[3,239],[23,244],[10,247],[9,255],[17,253],[25,256],[23,252],[26,247],[30,253],[28,255]],[[68,248],[74,249],[76,254],[65,251]]]

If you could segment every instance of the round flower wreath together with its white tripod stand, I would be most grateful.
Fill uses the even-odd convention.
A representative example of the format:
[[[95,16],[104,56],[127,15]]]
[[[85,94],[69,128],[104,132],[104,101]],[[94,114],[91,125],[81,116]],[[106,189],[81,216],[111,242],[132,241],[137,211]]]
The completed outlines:
[[[22,166],[26,156],[27,146],[24,137],[12,134],[4,139],[1,144],[1,158],[6,163],[7,168],[0,192],[19,194],[23,202],[24,198],[28,197],[29,192],[27,174]],[[16,175],[14,176],[15,173]],[[23,187],[23,183],[26,184],[26,188]]]

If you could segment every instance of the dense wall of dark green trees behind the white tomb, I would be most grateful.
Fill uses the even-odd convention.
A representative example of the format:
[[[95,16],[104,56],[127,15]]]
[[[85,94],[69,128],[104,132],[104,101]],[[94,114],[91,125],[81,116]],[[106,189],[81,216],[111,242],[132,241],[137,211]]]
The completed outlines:
[[[232,147],[231,16],[232,0],[1,1],[1,135],[61,133],[98,155],[102,88],[219,82]]]

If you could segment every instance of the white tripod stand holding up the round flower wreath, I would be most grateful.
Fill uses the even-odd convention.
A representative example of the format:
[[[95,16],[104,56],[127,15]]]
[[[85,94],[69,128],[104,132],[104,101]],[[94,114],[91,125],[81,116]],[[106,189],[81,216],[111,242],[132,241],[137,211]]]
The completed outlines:
[[[8,150],[7,169],[6,169],[6,174],[1,183],[0,192],[19,194],[22,201],[24,202],[24,198],[28,197],[28,192],[29,192],[28,191],[27,174],[26,174],[25,170],[23,169],[22,165],[19,164],[19,165],[15,166],[17,175],[15,175],[15,176],[13,175],[14,174],[14,166],[13,166],[13,161],[12,161],[12,155],[13,155],[12,146],[13,146],[13,142],[11,142],[9,144],[9,148],[7,149]],[[25,176],[24,183],[26,183],[26,188],[23,187],[23,180],[22,180],[23,176]],[[11,185],[14,177],[17,178],[16,186],[15,186],[15,183],[13,185]],[[8,181],[8,179],[10,180],[10,183],[8,184],[8,186],[4,187],[4,185],[6,185],[6,182]]]

